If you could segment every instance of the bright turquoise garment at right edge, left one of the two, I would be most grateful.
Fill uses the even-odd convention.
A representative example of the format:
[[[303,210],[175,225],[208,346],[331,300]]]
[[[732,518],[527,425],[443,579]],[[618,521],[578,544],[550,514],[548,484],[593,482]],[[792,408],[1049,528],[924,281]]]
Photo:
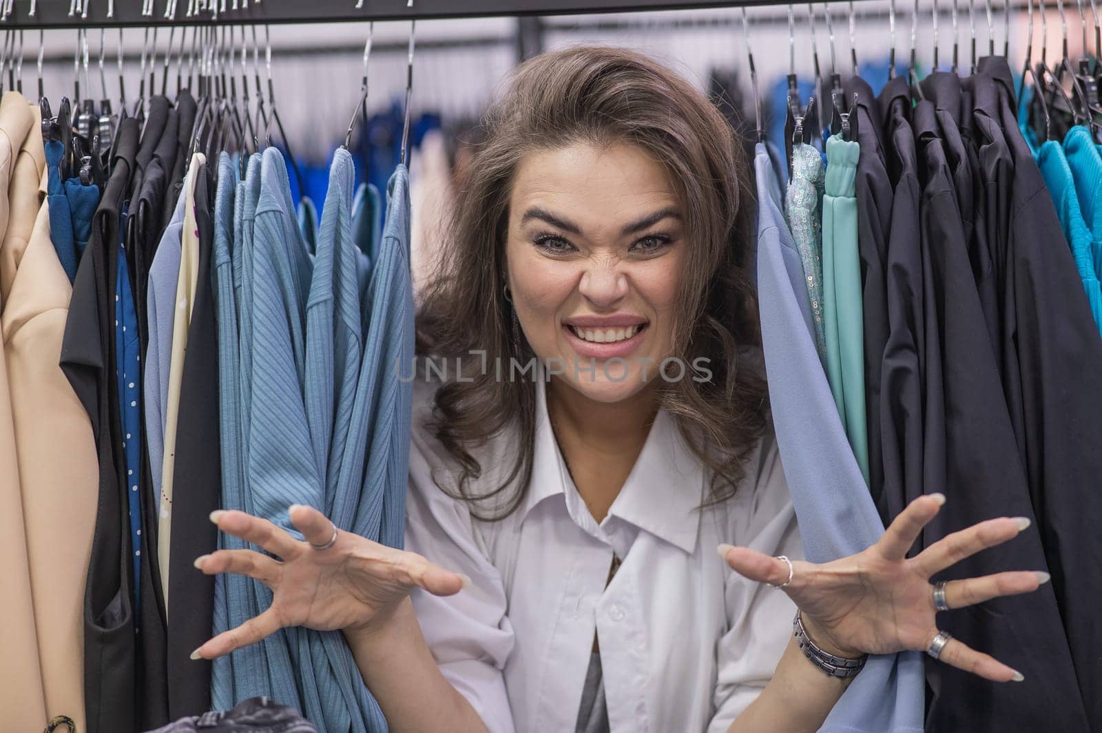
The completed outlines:
[[[1063,229],[1063,236],[1071,248],[1071,256],[1076,262],[1079,280],[1087,292],[1094,324],[1102,333],[1102,286],[1099,285],[1091,258],[1091,230],[1087,227],[1082,210],[1079,208],[1074,177],[1068,166],[1063,147],[1056,141],[1046,141],[1037,155],[1037,165],[1056,205],[1056,212],[1060,217],[1060,228]]]

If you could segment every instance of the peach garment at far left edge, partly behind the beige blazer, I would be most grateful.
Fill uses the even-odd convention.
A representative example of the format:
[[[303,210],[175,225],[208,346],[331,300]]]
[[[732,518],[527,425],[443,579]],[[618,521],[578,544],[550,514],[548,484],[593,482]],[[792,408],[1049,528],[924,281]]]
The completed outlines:
[[[9,190],[14,189],[14,166],[23,141],[34,125],[34,114],[22,95],[9,91],[0,101],[0,232],[7,239]],[[29,185],[20,176],[19,187]],[[36,186],[36,183],[31,183]],[[21,220],[20,217],[17,219]],[[32,225],[33,227],[33,219]],[[30,230],[28,230],[30,231]],[[0,284],[9,262],[0,245]],[[14,270],[12,262],[11,269]],[[13,277],[12,277],[13,280]],[[7,295],[0,288],[0,303]],[[2,315],[2,306],[0,306]],[[0,322],[0,336],[3,336]],[[0,715],[12,731],[41,731],[46,724],[45,692],[39,664],[37,634],[31,593],[23,499],[20,489],[15,426],[7,360],[0,360]]]

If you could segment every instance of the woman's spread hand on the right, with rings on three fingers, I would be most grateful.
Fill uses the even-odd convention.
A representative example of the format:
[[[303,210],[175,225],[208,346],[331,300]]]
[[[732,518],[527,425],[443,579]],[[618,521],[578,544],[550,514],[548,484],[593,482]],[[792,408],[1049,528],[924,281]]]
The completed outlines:
[[[1016,537],[1028,519],[988,519],[948,535],[912,558],[907,550],[944,503],[941,494],[912,501],[880,539],[863,553],[823,565],[793,561],[792,580],[784,588],[800,608],[804,628],[817,646],[843,657],[927,650],[938,634],[930,577]],[[721,545],[721,555],[738,573],[780,586],[788,564],[747,549]],[[1048,581],[1048,573],[1000,572],[947,583],[946,603],[960,609],[1002,595],[1028,593]],[[952,638],[939,656],[953,667],[996,682],[1022,676],[986,654]]]

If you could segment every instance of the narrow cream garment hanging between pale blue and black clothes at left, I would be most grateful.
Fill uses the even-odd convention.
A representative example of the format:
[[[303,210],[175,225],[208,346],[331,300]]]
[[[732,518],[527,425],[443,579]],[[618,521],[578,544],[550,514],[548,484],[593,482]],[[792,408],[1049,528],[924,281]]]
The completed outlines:
[[[172,359],[169,362],[169,402],[164,407],[164,463],[161,472],[161,513],[158,522],[156,562],[161,568],[164,610],[169,612],[169,547],[172,530],[172,472],[176,468],[176,418],[180,416],[180,385],[184,379],[187,327],[199,276],[199,230],[195,222],[195,182],[203,153],[192,155],[187,168],[184,200],[184,230],[180,236],[180,275],[176,277],[176,317],[172,324]]]

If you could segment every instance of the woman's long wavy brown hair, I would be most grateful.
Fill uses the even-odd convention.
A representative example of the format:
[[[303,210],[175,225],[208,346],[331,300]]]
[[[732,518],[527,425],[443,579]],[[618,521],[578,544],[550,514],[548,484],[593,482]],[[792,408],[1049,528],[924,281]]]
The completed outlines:
[[[760,371],[739,359],[760,343],[748,276],[755,207],[743,147],[726,119],[687,79],[648,56],[581,46],[521,64],[478,136],[418,311],[419,355],[464,357],[471,366],[464,381],[446,381],[435,392],[429,429],[460,467],[454,485],[437,478],[440,488],[486,521],[511,514],[528,490],[534,384],[495,380],[495,370],[472,364],[468,352],[484,350],[489,364],[531,357],[523,335],[516,336],[516,315],[503,293],[514,172],[529,153],[584,141],[638,145],[661,161],[674,182],[692,247],[670,355],[689,363],[709,358],[712,379],[662,382],[656,397],[711,469],[707,503],[731,496],[765,429],[767,392]],[[507,428],[519,438],[514,464],[498,486],[475,495],[471,482],[483,467],[472,451]],[[511,493],[510,486],[516,486]],[[477,510],[475,502],[483,506],[486,499],[495,500],[498,511]]]

